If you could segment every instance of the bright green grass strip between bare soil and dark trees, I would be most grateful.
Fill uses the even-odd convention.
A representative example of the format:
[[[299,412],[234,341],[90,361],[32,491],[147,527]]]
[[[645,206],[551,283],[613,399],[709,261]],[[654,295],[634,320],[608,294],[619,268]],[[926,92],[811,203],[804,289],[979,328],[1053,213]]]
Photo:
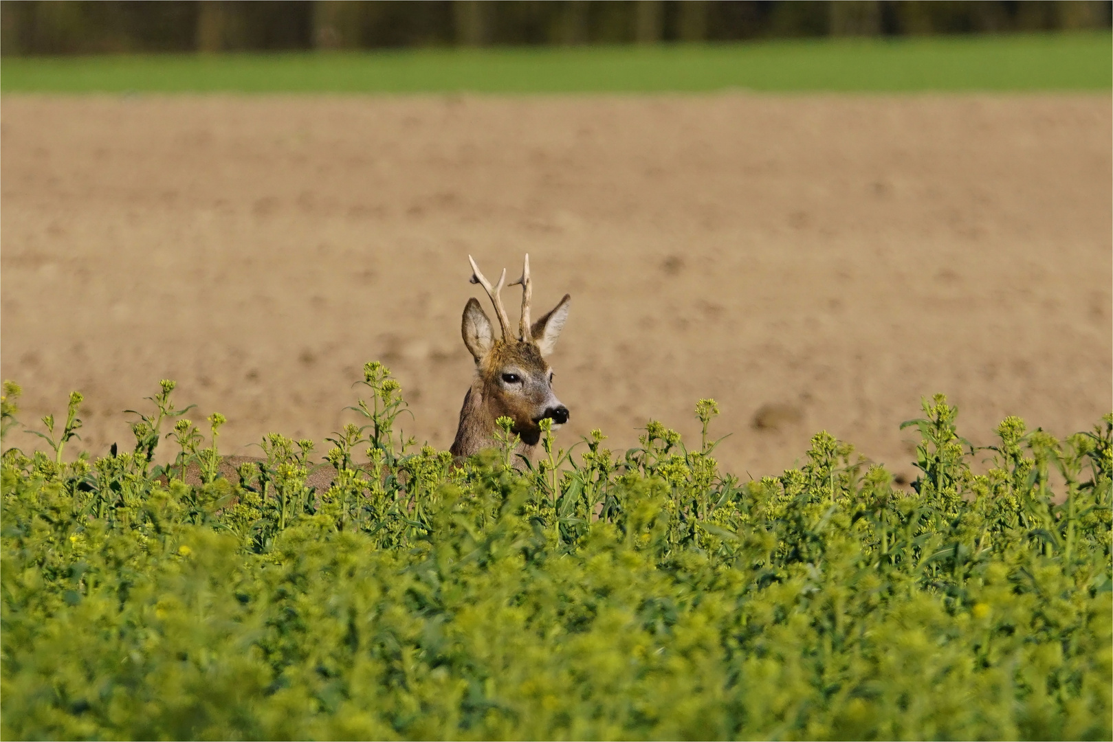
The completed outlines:
[[[1109,32],[659,47],[6,58],[3,92],[1104,90]]]

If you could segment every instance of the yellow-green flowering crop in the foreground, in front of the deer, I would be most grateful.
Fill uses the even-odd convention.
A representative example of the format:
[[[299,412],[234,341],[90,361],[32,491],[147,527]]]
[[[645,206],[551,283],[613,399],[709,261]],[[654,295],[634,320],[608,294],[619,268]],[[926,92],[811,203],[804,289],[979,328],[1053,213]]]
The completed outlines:
[[[726,474],[712,400],[687,445],[650,422],[526,465],[508,429],[456,464],[364,383],[324,456],[269,435],[236,471],[171,382],[99,457],[77,394],[49,453],[9,447],[7,385],[3,736],[1111,735],[1113,415],[974,449],[937,396],[904,489],[826,433]]]

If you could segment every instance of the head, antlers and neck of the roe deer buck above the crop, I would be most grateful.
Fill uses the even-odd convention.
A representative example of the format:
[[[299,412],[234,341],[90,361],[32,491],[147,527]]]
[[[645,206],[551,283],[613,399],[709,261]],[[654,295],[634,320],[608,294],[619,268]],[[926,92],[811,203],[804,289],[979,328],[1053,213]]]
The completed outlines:
[[[491,320],[479,300],[475,297],[469,299],[461,334],[464,345],[475,358],[475,380],[464,395],[460,427],[451,451],[453,456],[470,456],[480,448],[493,445],[494,433],[499,429],[495,421],[505,416],[514,421],[511,431],[521,438],[518,453],[531,456],[541,438],[541,421],[550,418],[554,428],[568,422],[568,407],[553,394],[553,373],[544,357],[552,353],[556,337],[564,328],[571,297],[565,294],[549,314],[531,325],[533,286],[530,283],[530,256],[526,255],[522,277],[511,284],[522,286],[522,318],[519,337],[514,338],[500,294],[506,280],[506,269],[502,269],[499,284],[492,287],[472,256],[469,255],[467,260],[472,264],[471,283],[483,286],[491,297],[502,337],[495,337]]]

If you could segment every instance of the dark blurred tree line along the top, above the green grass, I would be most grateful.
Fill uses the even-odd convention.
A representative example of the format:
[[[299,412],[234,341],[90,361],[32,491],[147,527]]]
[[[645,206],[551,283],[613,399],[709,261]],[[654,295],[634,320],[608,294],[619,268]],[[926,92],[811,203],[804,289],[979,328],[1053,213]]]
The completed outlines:
[[[656,43],[1110,28],[1109,1],[2,0],[3,55]]]

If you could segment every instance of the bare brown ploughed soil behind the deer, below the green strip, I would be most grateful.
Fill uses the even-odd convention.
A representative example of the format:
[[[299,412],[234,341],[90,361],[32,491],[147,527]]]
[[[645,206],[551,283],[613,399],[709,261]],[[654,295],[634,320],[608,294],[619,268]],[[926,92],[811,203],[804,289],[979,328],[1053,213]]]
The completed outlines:
[[[715,397],[742,476],[820,428],[908,476],[922,395],[978,443],[1113,406],[1109,96],[6,96],[0,142],[0,373],[97,453],[164,377],[227,453],[323,443],[374,358],[446,447],[469,253],[572,294],[565,444]]]

